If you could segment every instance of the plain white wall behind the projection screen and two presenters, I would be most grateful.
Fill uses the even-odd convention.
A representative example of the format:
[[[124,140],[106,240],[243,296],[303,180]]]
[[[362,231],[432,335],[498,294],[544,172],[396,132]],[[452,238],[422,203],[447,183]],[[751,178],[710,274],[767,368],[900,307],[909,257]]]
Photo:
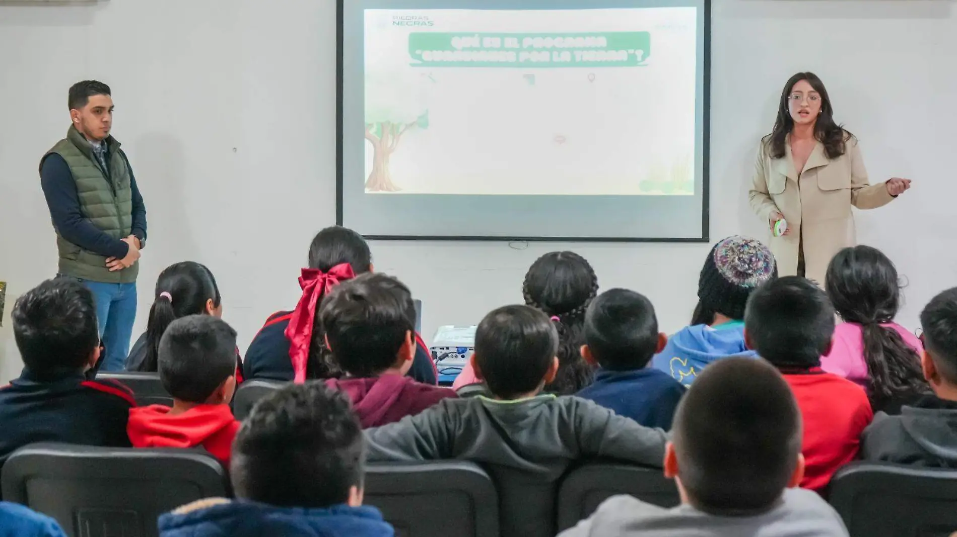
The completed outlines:
[[[13,299],[56,271],[36,166],[68,125],[66,89],[109,83],[115,135],[149,211],[138,330],[156,275],[191,259],[219,280],[242,345],[270,312],[291,308],[312,235],[335,221],[333,0],[112,0],[0,5],[0,379],[20,364]],[[711,90],[712,238],[761,236],[746,204],[759,136],[781,85],[812,70],[837,118],[861,140],[874,181],[914,180],[894,204],[858,215],[861,242],[908,276],[901,320],[957,284],[948,217],[957,195],[957,6],[953,0],[714,0]],[[597,216],[597,215],[596,215]],[[561,218],[562,215],[555,215]],[[471,323],[521,300],[540,254],[573,248],[603,288],[648,294],[662,327],[695,302],[704,245],[379,243],[378,269],[425,302],[424,333]]]

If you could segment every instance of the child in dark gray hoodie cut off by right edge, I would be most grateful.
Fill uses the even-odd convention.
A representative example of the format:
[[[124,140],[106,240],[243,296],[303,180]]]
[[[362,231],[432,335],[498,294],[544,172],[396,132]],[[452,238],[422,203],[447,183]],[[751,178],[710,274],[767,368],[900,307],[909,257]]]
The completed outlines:
[[[921,312],[924,376],[933,395],[878,413],[861,439],[868,461],[957,468],[957,288],[933,298]]]

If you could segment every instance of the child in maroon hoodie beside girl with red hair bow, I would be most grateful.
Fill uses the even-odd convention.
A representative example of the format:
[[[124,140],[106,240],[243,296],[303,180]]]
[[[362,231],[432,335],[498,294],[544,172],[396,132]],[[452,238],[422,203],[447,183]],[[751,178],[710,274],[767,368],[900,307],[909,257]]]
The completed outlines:
[[[457,397],[405,376],[415,356],[415,305],[409,288],[395,278],[367,273],[339,284],[323,300],[320,321],[325,344],[347,375],[326,385],[345,392],[363,428]]]

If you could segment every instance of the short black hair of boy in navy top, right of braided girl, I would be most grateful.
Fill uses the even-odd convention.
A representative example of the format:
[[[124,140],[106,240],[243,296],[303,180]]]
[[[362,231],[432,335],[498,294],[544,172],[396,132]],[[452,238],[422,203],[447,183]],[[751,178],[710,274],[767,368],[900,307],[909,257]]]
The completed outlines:
[[[657,351],[655,307],[634,290],[607,290],[585,313],[585,342],[604,369],[641,369]]]

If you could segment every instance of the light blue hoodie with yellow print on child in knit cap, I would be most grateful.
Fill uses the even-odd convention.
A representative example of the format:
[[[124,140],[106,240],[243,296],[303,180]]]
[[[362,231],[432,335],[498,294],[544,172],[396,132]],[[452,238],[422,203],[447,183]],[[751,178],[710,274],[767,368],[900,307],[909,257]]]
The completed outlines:
[[[704,366],[719,358],[757,355],[745,347],[745,323],[730,321],[715,327],[695,325],[681,329],[671,336],[663,351],[655,354],[652,367],[690,386]]]

